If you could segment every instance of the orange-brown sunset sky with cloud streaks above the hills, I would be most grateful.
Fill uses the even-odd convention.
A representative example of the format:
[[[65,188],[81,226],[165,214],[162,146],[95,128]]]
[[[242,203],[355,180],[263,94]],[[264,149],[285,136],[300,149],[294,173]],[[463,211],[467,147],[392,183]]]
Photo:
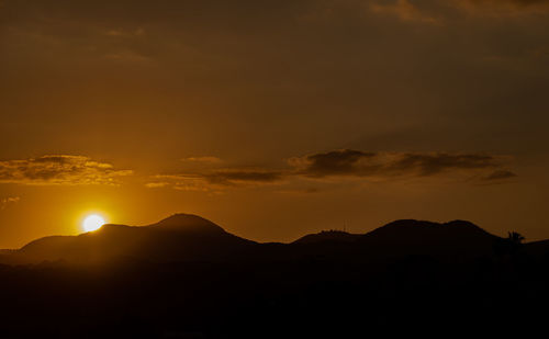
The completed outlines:
[[[0,0],[0,248],[89,213],[549,238],[548,84],[548,0]]]

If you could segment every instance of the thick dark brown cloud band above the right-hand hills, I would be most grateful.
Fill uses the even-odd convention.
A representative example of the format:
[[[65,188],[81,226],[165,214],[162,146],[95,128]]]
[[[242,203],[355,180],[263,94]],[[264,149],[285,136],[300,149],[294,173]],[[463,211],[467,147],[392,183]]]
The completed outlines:
[[[307,178],[433,177],[449,172],[497,169],[505,157],[448,152],[365,152],[341,149],[291,158],[298,174]]]

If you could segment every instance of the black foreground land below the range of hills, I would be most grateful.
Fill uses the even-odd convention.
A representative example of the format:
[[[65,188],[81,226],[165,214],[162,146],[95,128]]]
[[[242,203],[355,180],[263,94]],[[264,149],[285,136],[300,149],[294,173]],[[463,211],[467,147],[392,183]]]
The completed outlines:
[[[262,245],[210,261],[1,265],[0,337],[445,338],[524,335],[548,321],[545,244],[495,239],[492,252],[467,256],[352,244]]]

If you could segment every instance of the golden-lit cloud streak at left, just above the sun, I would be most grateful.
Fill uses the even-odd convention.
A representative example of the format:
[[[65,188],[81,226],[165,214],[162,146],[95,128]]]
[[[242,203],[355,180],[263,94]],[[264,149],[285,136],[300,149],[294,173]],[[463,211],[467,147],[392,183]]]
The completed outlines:
[[[0,183],[19,184],[119,184],[131,170],[114,169],[83,156],[46,155],[24,160],[0,161]]]

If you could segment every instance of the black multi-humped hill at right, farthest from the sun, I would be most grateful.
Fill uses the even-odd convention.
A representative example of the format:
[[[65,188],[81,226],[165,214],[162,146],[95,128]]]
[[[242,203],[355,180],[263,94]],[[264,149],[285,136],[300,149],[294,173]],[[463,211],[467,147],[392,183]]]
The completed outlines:
[[[493,256],[500,241],[503,239],[470,222],[401,219],[363,235],[341,230],[306,235],[291,242],[289,249],[279,249],[279,256],[362,264],[385,264],[410,256],[459,261]]]

